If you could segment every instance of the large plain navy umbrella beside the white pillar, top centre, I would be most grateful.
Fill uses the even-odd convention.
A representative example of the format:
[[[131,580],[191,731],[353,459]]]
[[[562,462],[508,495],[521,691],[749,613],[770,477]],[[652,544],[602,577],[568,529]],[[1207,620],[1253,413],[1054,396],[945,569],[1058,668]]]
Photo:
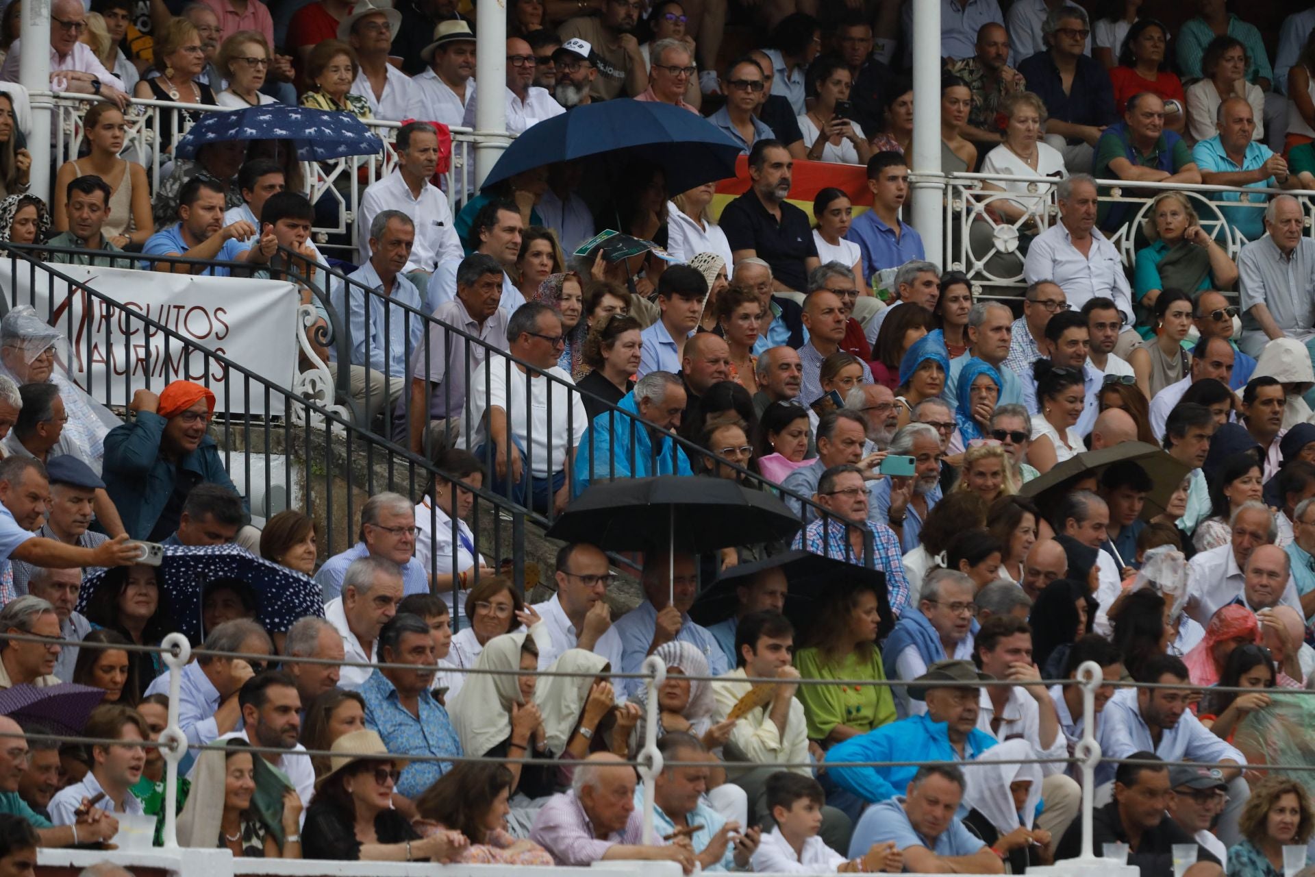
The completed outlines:
[[[585,104],[531,125],[512,141],[484,185],[544,164],[614,150],[661,166],[668,192],[735,176],[739,145],[688,109],[630,99]]]

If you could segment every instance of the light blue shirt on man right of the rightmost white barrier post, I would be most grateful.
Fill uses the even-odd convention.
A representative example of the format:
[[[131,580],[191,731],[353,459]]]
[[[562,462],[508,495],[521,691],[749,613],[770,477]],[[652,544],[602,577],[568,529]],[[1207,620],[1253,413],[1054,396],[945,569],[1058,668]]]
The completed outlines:
[[[1097,724],[1097,739],[1101,752],[1110,759],[1127,759],[1134,752],[1155,752],[1165,761],[1216,764],[1227,759],[1247,764],[1247,756],[1211,734],[1191,710],[1185,711],[1172,728],[1162,728],[1160,746],[1156,746],[1151,728],[1137,709],[1135,688],[1116,692],[1105,705]],[[1097,785],[1112,780],[1114,768],[1112,763],[1101,761],[1095,768]]]

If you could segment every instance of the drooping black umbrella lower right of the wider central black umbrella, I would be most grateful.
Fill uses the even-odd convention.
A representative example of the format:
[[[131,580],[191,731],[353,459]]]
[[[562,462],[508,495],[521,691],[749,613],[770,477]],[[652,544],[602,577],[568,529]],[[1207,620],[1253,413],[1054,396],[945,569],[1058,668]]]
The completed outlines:
[[[807,551],[785,551],[763,560],[731,567],[698,596],[698,600],[689,609],[689,617],[704,627],[730,618],[739,607],[735,589],[742,584],[751,582],[764,569],[776,568],[785,573],[788,584],[782,614],[790,619],[796,630],[807,630],[811,626],[813,617],[827,590],[857,582],[871,584],[877,592],[877,610],[881,614],[878,639],[885,639],[890,628],[894,627],[896,619],[886,597],[886,575],[884,572]]]

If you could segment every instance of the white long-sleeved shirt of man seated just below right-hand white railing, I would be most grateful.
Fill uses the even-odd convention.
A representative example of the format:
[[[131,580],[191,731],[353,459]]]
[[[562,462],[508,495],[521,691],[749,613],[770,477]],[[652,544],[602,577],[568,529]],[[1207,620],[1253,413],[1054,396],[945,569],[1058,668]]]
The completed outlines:
[[[1091,298],[1112,298],[1124,325],[1132,325],[1132,287],[1123,273],[1119,251],[1099,229],[1091,229],[1091,247],[1085,256],[1073,246],[1073,235],[1063,222],[1045,229],[1027,250],[1023,279],[1030,284],[1053,280],[1073,310],[1081,310]]]

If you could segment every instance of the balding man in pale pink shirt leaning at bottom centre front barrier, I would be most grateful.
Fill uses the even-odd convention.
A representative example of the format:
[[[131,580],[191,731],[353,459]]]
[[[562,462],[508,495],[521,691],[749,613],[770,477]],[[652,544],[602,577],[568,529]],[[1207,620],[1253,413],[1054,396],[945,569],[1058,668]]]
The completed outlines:
[[[643,819],[635,809],[635,770],[610,752],[596,752],[575,769],[571,789],[539,809],[530,839],[558,865],[588,868],[609,859],[677,861],[688,874],[694,848],[688,838],[671,845],[642,844]]]

